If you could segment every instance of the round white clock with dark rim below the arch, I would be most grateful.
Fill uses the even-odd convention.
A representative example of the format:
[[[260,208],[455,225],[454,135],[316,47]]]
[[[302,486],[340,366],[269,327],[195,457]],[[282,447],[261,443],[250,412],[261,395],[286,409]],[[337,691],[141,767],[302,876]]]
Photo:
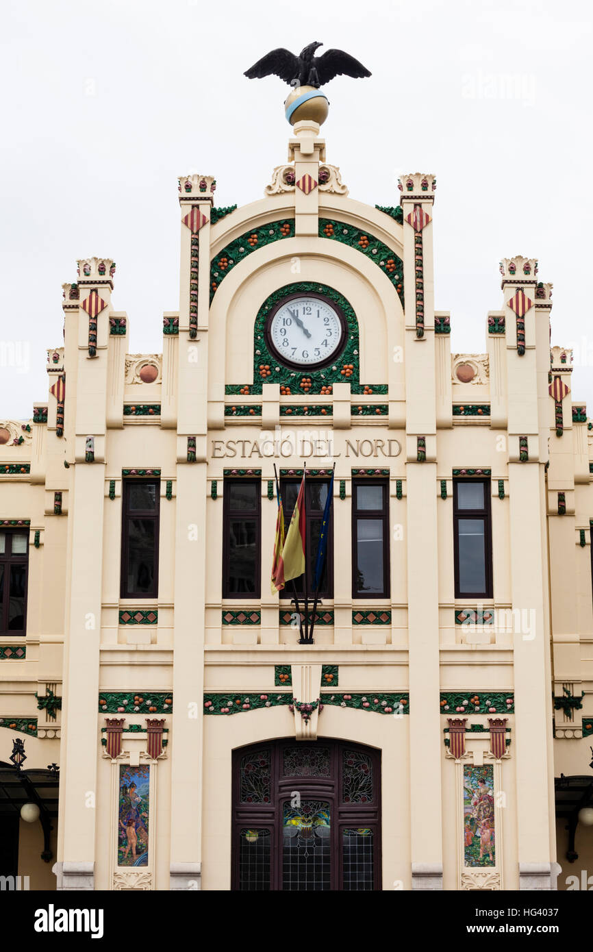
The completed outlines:
[[[346,339],[342,310],[323,294],[289,294],[267,317],[267,346],[287,367],[326,367],[342,352]]]

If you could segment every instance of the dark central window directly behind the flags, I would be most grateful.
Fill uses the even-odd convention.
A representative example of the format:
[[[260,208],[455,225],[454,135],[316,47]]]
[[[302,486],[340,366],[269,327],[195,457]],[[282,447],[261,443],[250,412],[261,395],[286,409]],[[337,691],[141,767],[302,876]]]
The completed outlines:
[[[285,531],[288,531],[292,512],[299,495],[301,486],[300,480],[283,480],[281,483],[282,505],[285,514]],[[306,517],[306,540],[305,540],[305,562],[306,562],[306,590],[309,595],[314,595],[313,575],[315,572],[315,562],[317,560],[317,549],[319,547],[319,536],[324,521],[324,510],[326,508],[327,492],[329,490],[329,481],[320,479],[306,480],[305,482],[305,517]],[[305,594],[305,575],[301,575],[294,580],[294,584],[299,597]],[[281,598],[291,599],[293,597],[292,583],[288,582],[285,588],[280,592]],[[327,550],[326,565],[319,585],[320,598],[333,598],[333,506],[329,512],[329,526],[327,526]]]

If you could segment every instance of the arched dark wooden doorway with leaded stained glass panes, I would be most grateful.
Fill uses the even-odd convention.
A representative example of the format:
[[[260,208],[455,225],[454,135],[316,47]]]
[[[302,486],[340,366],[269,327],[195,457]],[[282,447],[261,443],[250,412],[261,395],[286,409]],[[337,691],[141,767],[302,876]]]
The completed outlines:
[[[381,889],[381,757],[346,741],[233,751],[232,889]]]

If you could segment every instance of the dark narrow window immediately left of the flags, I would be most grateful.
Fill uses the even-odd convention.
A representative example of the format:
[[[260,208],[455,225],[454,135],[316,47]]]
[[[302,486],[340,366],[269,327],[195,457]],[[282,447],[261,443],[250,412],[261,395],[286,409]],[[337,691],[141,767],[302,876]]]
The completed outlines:
[[[260,598],[261,495],[259,480],[225,480],[223,598]]]

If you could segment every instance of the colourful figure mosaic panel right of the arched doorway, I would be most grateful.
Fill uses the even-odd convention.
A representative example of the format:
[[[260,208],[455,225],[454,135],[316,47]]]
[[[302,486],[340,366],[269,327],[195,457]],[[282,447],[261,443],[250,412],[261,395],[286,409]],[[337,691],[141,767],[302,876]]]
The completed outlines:
[[[464,765],[464,858],[466,866],[495,866],[494,767]]]

